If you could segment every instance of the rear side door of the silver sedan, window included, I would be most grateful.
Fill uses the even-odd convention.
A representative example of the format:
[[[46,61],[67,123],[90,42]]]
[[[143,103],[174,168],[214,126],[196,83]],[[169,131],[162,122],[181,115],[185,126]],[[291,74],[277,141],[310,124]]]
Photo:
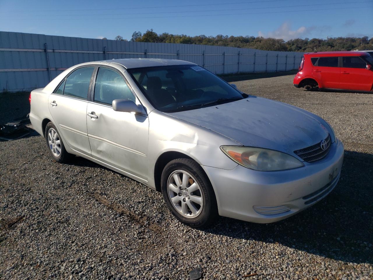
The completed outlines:
[[[66,144],[73,150],[91,155],[87,132],[87,96],[94,66],[80,67],[68,75],[48,97],[48,107],[54,124]]]

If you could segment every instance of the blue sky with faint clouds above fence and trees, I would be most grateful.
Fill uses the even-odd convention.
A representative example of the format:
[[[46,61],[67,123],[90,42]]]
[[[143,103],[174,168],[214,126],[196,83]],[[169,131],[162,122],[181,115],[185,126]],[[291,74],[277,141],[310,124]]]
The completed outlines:
[[[128,40],[151,28],[284,40],[373,37],[372,15],[373,0],[0,0],[0,31]]]

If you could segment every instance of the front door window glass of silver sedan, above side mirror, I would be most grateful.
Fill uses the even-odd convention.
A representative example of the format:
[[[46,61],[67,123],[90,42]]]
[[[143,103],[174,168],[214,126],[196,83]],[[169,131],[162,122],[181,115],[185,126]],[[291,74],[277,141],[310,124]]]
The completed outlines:
[[[103,67],[98,68],[94,101],[112,105],[115,99],[130,99],[135,102],[132,91],[116,71]]]

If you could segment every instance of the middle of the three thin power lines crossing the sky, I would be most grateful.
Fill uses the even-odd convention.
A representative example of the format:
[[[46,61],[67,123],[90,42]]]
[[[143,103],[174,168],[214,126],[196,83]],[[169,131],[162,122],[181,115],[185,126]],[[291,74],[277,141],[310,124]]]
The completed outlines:
[[[297,5],[297,7],[306,6],[325,6],[325,5],[335,5],[335,4],[357,4],[357,3],[372,3],[372,1],[360,1],[360,2],[334,2],[334,3],[324,3],[324,4],[307,4],[307,5]],[[240,9],[219,9],[219,10],[194,10],[194,11],[176,11],[176,12],[146,12],[146,13],[106,13],[106,14],[75,14],[75,15],[58,15],[58,16],[105,16],[105,15],[143,15],[143,14],[160,14],[160,13],[195,13],[195,12],[221,12],[221,11],[236,11],[236,10],[257,10],[257,9],[277,9],[277,8],[289,8],[291,6],[275,6],[275,7],[255,7],[255,8],[240,8]],[[9,15],[8,15],[9,16]],[[56,15],[42,15],[42,16],[56,16]],[[14,16],[10,16],[14,18]]]

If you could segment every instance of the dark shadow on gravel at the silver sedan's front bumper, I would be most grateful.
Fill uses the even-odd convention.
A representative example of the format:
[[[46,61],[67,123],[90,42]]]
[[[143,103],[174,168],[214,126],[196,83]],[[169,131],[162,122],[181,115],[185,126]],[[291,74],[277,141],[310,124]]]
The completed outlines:
[[[372,171],[372,154],[346,151],[339,183],[316,205],[272,224],[220,218],[204,231],[238,239],[280,243],[345,262],[372,264]]]

